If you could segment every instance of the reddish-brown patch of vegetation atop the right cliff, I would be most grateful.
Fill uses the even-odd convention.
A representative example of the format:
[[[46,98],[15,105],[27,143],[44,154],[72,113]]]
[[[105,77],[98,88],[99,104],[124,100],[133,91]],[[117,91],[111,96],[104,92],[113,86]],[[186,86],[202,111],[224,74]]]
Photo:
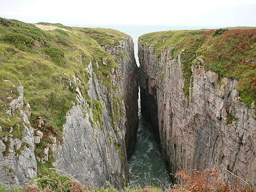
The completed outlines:
[[[205,31],[210,35],[212,31]],[[222,77],[238,79],[237,88],[243,91],[242,101],[251,105],[256,95],[255,43],[256,29],[231,29],[205,42],[203,55],[208,69]]]

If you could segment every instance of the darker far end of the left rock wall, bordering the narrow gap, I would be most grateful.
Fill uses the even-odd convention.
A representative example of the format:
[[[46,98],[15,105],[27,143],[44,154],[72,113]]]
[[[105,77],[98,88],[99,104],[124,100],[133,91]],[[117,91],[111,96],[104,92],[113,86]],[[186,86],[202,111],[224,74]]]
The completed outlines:
[[[134,45],[132,40],[123,40],[114,48],[104,47],[104,50],[113,55],[119,66],[121,84],[119,85],[124,104],[126,106],[126,150],[127,157],[132,155],[136,143],[138,128],[138,68],[134,57]],[[119,57],[119,55],[123,57]]]

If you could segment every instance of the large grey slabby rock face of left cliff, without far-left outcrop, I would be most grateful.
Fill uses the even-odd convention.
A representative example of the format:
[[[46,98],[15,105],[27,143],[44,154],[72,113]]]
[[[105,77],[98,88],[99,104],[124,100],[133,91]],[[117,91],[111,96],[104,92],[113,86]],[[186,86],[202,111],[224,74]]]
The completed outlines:
[[[110,89],[94,74],[92,65],[97,63],[90,63],[85,69],[90,77],[88,94],[93,104],[76,89],[78,103],[66,115],[63,144],[53,145],[55,168],[93,188],[105,186],[106,180],[122,188],[128,180],[125,141],[134,139],[138,123],[137,102],[127,101],[131,96],[137,101],[138,91],[132,46],[132,39],[125,38],[119,46],[104,47],[118,63],[118,69],[113,68],[109,74]],[[98,118],[94,110],[98,110]],[[131,122],[131,118],[135,121]]]

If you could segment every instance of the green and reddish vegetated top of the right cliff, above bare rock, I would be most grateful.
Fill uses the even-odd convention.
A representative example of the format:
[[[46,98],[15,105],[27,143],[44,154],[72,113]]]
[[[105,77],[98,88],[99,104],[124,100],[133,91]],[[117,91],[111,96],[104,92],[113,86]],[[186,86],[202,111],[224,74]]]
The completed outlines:
[[[229,30],[172,30],[142,35],[145,48],[154,48],[160,57],[162,49],[171,48],[171,58],[181,54],[183,77],[191,76],[191,65],[205,60],[205,68],[220,77],[238,79],[241,101],[250,106],[256,99],[256,29],[235,27]],[[186,85],[185,85],[186,86]],[[188,88],[188,86],[187,86]],[[183,89],[184,90],[184,89]],[[185,93],[188,90],[184,90]]]

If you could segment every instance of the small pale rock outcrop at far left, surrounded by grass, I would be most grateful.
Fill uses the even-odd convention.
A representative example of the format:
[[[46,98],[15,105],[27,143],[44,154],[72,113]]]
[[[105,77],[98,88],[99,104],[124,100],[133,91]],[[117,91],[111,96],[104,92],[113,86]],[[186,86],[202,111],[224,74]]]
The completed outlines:
[[[0,181],[7,188],[13,185],[23,185],[37,176],[34,129],[28,120],[29,104],[24,104],[23,86],[19,85],[18,91],[20,96],[5,107],[10,118],[18,116],[20,121],[13,124],[9,133],[0,140]],[[23,127],[19,138],[14,137],[16,126]],[[1,126],[0,132],[2,132]]]

